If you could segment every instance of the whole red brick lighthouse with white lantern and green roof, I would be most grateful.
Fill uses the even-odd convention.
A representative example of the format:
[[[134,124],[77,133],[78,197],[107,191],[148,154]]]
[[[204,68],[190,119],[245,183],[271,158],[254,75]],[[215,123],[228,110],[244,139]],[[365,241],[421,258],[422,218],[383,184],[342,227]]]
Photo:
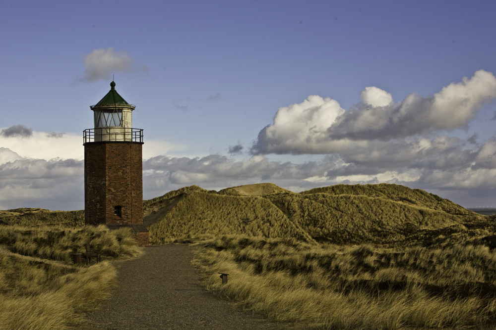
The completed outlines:
[[[84,138],[84,222],[111,229],[128,227],[148,245],[143,226],[143,130],[132,128],[132,110],[110,83],[110,92],[91,105],[95,128]]]

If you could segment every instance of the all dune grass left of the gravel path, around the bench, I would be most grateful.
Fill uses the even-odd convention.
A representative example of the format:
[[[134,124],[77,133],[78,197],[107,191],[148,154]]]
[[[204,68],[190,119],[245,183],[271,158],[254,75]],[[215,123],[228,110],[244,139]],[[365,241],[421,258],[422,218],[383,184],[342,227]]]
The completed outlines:
[[[76,267],[71,253],[86,243],[103,262]],[[0,329],[68,329],[96,308],[115,285],[107,261],[139,249],[127,230],[105,226],[0,226]]]

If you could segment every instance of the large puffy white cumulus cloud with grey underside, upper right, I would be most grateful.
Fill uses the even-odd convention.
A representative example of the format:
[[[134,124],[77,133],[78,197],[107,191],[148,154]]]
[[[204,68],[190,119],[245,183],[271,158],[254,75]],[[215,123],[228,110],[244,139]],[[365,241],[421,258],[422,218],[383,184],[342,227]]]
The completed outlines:
[[[274,123],[263,128],[253,154],[326,154],[367,147],[371,141],[429,136],[465,127],[485,102],[496,97],[496,78],[479,70],[440,92],[409,94],[394,103],[376,87],[362,93],[362,103],[345,111],[336,100],[309,96],[302,103],[279,108]]]

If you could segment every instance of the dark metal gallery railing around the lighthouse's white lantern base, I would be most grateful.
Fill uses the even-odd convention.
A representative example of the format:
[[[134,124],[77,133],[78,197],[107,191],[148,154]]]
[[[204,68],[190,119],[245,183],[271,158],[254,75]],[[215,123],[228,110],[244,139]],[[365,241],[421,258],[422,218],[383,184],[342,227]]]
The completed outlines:
[[[104,127],[83,131],[83,144],[88,142],[127,141],[143,143],[143,130],[138,128]]]

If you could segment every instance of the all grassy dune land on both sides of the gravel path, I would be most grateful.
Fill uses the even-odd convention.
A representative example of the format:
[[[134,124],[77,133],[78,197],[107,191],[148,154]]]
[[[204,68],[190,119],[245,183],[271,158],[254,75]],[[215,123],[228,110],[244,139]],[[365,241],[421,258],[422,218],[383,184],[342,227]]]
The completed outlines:
[[[495,217],[423,190],[190,186],[144,201],[143,213],[151,243],[196,244],[208,289],[277,320],[306,329],[496,327]],[[74,268],[72,247],[91,242],[122,258],[136,246],[126,232],[80,226],[83,218],[0,211],[0,328],[64,329],[108,294],[115,270]],[[227,285],[218,272],[230,274]],[[88,295],[89,306],[63,293],[86,280],[74,296]],[[16,323],[23,313],[33,318]]]

